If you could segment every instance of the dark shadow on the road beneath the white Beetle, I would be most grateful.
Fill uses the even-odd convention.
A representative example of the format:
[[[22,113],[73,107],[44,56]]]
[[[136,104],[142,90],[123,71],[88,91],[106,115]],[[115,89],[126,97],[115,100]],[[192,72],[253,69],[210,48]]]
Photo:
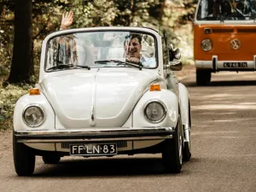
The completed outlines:
[[[185,164],[183,164],[185,166]],[[164,172],[161,158],[74,159],[56,165],[42,163],[32,177],[127,177],[143,175],[177,176]]]

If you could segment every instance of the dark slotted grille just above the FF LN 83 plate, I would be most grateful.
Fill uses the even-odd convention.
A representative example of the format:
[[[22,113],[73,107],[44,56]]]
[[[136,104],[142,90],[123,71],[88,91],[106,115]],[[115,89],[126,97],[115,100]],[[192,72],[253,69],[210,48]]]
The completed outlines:
[[[83,145],[83,144],[86,144],[86,143],[90,143],[90,144],[96,144],[96,143],[106,143],[106,144],[116,144],[118,148],[126,148],[127,147],[127,142],[126,141],[114,141],[114,142],[111,142],[111,141],[108,141],[108,142],[63,142],[61,143],[61,148],[70,148],[70,145]]]

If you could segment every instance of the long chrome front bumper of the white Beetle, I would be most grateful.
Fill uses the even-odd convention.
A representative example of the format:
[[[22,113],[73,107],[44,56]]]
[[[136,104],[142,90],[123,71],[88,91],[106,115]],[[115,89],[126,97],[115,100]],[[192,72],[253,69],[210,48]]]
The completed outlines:
[[[96,142],[96,141],[146,141],[169,139],[174,127],[115,128],[83,130],[28,130],[15,131],[19,143]]]

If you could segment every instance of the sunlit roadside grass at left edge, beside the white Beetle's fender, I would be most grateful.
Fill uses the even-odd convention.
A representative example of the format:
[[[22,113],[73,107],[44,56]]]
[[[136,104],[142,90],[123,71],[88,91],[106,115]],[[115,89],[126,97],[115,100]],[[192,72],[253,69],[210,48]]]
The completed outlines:
[[[15,103],[31,88],[31,84],[3,86],[3,79],[0,79],[0,131],[12,128]]]

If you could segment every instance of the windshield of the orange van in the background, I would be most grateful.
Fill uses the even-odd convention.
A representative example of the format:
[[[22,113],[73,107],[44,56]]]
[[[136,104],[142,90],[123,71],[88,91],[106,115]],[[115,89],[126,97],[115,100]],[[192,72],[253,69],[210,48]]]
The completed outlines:
[[[197,20],[254,20],[256,0],[201,0]]]

